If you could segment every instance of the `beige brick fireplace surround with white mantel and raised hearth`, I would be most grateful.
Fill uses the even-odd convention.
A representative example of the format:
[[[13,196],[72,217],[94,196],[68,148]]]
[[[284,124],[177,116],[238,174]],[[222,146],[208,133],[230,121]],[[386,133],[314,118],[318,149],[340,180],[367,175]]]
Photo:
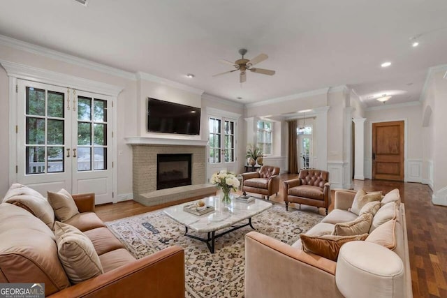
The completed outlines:
[[[206,181],[206,144],[203,140],[128,137],[133,151],[133,200],[153,206],[197,195],[215,193]],[[157,154],[191,154],[192,186],[156,190]]]

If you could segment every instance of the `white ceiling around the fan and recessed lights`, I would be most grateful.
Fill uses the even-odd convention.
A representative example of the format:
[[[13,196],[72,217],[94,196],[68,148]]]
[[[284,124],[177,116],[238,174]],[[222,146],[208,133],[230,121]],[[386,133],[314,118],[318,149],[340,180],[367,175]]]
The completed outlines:
[[[445,0],[21,0],[0,2],[0,34],[241,103],[347,84],[367,106],[418,100],[427,68],[447,63]],[[409,38],[418,36],[411,47]],[[261,52],[259,68],[212,77]],[[384,61],[393,64],[381,68]],[[187,78],[186,73],[196,75]],[[411,85],[408,85],[412,83]],[[242,97],[242,100],[237,100]]]

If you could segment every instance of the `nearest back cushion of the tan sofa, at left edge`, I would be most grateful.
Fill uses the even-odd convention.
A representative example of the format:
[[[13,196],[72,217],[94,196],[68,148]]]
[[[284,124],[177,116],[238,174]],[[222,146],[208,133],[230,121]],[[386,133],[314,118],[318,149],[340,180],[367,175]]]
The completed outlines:
[[[0,282],[45,283],[45,296],[70,282],[43,221],[13,204],[0,204]]]

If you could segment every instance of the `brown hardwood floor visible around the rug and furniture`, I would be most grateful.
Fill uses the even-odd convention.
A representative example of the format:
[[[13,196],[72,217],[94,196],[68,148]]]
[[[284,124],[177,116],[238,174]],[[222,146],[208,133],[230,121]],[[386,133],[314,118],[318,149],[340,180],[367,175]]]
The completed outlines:
[[[281,174],[280,177],[281,181],[285,181],[296,175]],[[284,202],[281,188],[282,183],[278,195],[273,195],[270,200]],[[413,297],[447,297],[447,207],[434,206],[431,202],[432,191],[423,184],[355,180],[354,189],[361,188],[365,191],[381,190],[383,193],[399,188],[402,202],[405,203]],[[330,210],[333,205],[332,198]],[[96,214],[103,221],[113,221],[162,207],[145,207],[134,201],[126,201],[98,206]],[[302,209],[316,211],[316,207],[305,205]],[[322,208],[318,212],[325,214]]]

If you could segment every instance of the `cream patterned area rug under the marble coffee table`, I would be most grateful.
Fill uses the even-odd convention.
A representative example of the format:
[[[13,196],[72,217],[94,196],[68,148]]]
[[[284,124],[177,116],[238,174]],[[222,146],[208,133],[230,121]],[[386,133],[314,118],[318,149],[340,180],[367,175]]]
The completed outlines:
[[[262,234],[293,244],[324,216],[274,204],[251,218]],[[244,234],[247,226],[216,239],[215,253],[205,243],[184,236],[184,226],[163,214],[163,209],[106,223],[135,256],[142,258],[168,246],[178,245],[185,252],[186,297],[244,296]],[[219,232],[221,232],[219,230]],[[205,235],[200,235],[205,237]]]

